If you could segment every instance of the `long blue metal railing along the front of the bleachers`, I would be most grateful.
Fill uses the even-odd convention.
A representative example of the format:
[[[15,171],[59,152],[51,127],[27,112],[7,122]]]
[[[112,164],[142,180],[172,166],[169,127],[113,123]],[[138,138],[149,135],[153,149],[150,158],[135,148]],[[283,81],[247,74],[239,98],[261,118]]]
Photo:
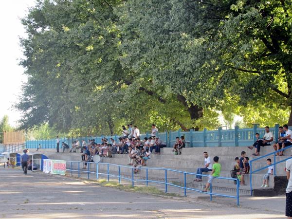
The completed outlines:
[[[99,175],[103,175],[106,176],[108,181],[110,181],[110,177],[115,177],[118,178],[119,183],[121,183],[121,179],[123,180],[128,180],[131,181],[132,186],[134,186],[134,182],[145,182],[146,186],[148,186],[148,183],[160,183],[160,184],[164,184],[165,185],[165,193],[167,193],[168,190],[168,185],[170,186],[174,186],[174,187],[178,187],[178,188],[182,188],[184,191],[184,196],[186,196],[187,190],[191,190],[191,191],[195,191],[195,192],[200,192],[203,194],[208,194],[210,195],[210,201],[212,201],[212,196],[220,196],[220,197],[227,197],[227,198],[234,198],[237,199],[237,205],[239,206],[239,180],[235,179],[235,178],[226,178],[226,177],[215,177],[216,179],[219,180],[231,180],[231,181],[236,181],[236,188],[237,188],[237,192],[236,195],[231,196],[231,195],[224,195],[224,194],[219,194],[219,193],[214,193],[212,191],[212,183],[210,184],[210,192],[202,192],[199,189],[195,189],[195,188],[190,188],[187,187],[186,184],[186,176],[187,175],[191,175],[191,176],[202,176],[202,177],[208,177],[208,175],[202,175],[202,174],[197,174],[197,173],[191,173],[191,172],[184,172],[184,171],[179,171],[179,170],[174,170],[174,169],[168,169],[168,168],[158,168],[158,167],[132,167],[132,166],[125,166],[125,165],[119,165],[119,164],[108,164],[108,163],[92,163],[92,162],[79,162],[79,161],[67,161],[70,163],[71,168],[68,169],[66,168],[66,170],[71,171],[71,176],[73,176],[73,172],[78,172],[78,178],[80,177],[80,173],[87,173],[87,178],[90,178],[90,174],[94,174],[96,175],[96,179],[99,179]],[[78,167],[77,169],[73,169],[73,164],[77,163]],[[87,170],[80,170],[80,163],[87,163]],[[90,164],[95,164],[95,172],[90,171]],[[100,165],[107,165],[107,173],[101,173],[99,171],[99,166]],[[118,175],[115,175],[114,173],[110,173],[110,166],[116,166],[118,167]],[[128,168],[131,169],[131,178],[125,177],[125,176],[121,176],[121,167],[123,168]],[[134,178],[134,169],[145,169],[146,170],[146,178],[145,179],[135,179]],[[161,181],[157,181],[157,180],[151,180],[149,179],[148,176],[148,170],[163,170],[164,171],[164,182]],[[181,185],[177,185],[177,184],[173,184],[173,183],[168,183],[167,182],[167,173],[169,172],[176,172],[176,173],[182,173],[183,174],[183,186]]]

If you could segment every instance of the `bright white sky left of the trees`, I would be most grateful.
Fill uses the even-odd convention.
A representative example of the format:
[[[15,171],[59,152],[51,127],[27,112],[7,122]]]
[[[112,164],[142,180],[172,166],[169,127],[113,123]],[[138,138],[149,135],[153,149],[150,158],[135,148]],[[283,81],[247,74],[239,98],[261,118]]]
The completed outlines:
[[[21,115],[12,105],[18,101],[22,83],[27,81],[24,69],[18,65],[23,57],[19,37],[25,37],[20,18],[35,4],[35,0],[0,1],[0,118],[8,115],[12,126],[17,126]]]

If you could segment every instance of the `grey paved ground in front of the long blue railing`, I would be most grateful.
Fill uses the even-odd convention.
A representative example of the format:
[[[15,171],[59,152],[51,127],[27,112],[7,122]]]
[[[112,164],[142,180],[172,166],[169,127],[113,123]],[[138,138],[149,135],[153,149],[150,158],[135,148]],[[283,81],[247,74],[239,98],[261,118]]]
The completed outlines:
[[[189,200],[125,192],[31,171],[25,176],[18,169],[0,168],[0,218],[285,218],[271,209]]]

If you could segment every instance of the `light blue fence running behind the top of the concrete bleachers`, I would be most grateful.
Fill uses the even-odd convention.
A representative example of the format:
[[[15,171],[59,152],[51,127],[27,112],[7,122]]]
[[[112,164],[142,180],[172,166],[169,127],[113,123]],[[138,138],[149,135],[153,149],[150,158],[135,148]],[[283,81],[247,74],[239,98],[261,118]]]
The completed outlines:
[[[278,136],[278,127],[276,124],[274,128],[270,128],[270,131],[274,134],[274,140],[277,141]],[[182,131],[179,129],[178,131],[165,131],[158,133],[160,139],[162,139],[167,146],[173,146],[177,136],[184,136],[185,141],[187,143],[187,147],[216,147],[216,146],[250,146],[256,141],[255,134],[260,134],[260,137],[263,137],[265,134],[265,128],[258,128],[255,125],[253,128],[238,128],[224,130],[219,127],[217,130],[207,130],[206,128],[203,131],[194,131],[191,129],[190,131]],[[140,135],[141,139],[145,137],[149,137],[150,134],[142,134]],[[115,139],[118,142],[118,135],[114,136],[98,136],[98,137],[78,137],[78,138],[63,138],[60,139],[61,142],[64,141],[69,146],[72,141],[78,139],[80,142],[84,139],[86,142],[88,139],[95,139],[95,142],[101,143],[101,138],[106,137],[110,140],[110,138]],[[56,140],[34,140],[34,141],[26,141],[27,148],[37,148],[40,144],[42,148],[55,148]]]

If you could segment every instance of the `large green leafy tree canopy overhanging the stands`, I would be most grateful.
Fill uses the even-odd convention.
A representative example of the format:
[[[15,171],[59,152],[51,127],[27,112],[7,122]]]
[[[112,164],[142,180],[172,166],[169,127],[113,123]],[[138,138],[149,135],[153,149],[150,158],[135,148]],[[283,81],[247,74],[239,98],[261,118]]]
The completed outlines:
[[[217,128],[219,111],[292,125],[291,16],[292,0],[38,0],[21,128]]]

